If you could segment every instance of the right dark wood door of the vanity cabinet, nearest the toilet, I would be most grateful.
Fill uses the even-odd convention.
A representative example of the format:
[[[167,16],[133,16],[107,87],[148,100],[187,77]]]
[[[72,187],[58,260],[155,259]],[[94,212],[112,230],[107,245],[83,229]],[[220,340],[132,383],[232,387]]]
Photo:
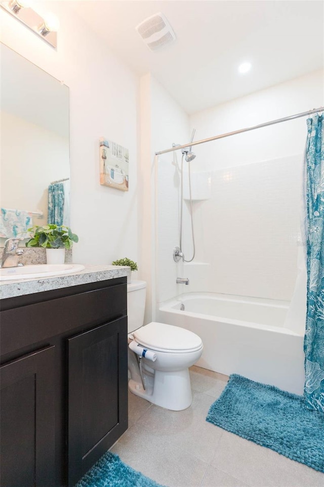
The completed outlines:
[[[68,340],[68,485],[128,427],[127,317]]]

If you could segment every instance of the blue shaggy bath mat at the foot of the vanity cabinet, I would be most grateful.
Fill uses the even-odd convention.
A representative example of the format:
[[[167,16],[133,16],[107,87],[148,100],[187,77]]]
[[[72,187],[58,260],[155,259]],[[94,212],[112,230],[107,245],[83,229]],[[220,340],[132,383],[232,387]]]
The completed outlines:
[[[107,451],[75,487],[163,487]]]

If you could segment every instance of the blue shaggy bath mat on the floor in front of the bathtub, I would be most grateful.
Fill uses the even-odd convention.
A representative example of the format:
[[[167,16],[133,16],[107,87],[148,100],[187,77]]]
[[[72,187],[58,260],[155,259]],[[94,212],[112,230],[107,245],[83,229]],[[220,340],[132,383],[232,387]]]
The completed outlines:
[[[206,421],[324,472],[324,414],[302,396],[233,374]]]

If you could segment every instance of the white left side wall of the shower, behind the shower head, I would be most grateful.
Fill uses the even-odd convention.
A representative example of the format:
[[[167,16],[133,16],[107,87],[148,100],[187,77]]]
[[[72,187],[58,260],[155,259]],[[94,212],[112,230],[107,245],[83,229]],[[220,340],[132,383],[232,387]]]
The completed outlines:
[[[189,138],[189,117],[178,103],[157,82],[152,85],[155,114],[153,147],[157,150],[183,144]],[[178,151],[179,152],[179,151]],[[178,267],[172,257],[173,248],[179,245],[179,171],[173,153],[158,157],[156,177],[156,240],[155,271],[158,279],[156,296],[164,301],[177,293]]]

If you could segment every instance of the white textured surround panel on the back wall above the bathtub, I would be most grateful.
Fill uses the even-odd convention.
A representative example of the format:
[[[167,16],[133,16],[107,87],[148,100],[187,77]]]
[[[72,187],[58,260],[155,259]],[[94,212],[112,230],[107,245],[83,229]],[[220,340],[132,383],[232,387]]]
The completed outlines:
[[[211,171],[211,198],[194,203],[197,261],[185,266],[194,272],[191,290],[291,299],[301,161],[287,156]]]

